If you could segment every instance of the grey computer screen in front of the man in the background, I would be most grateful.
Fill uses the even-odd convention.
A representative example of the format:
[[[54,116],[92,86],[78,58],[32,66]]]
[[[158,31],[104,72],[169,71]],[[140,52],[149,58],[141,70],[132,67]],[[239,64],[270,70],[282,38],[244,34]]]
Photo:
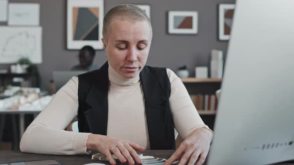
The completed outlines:
[[[53,81],[56,91],[65,85],[72,77],[86,72],[87,71],[53,71]]]

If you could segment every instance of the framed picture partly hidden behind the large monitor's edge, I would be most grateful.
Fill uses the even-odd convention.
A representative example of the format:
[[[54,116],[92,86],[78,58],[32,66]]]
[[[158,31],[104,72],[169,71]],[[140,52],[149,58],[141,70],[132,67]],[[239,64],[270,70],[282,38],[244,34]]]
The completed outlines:
[[[228,41],[230,39],[231,28],[235,4],[221,3],[218,5],[218,39]]]

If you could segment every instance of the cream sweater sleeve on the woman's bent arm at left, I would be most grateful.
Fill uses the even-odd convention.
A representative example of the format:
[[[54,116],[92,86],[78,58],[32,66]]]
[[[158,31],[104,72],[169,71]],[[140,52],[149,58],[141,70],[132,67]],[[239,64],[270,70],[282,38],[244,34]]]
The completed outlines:
[[[20,150],[27,153],[87,154],[89,133],[65,131],[77,115],[78,78],[73,77],[53,96],[49,104],[24,132]]]

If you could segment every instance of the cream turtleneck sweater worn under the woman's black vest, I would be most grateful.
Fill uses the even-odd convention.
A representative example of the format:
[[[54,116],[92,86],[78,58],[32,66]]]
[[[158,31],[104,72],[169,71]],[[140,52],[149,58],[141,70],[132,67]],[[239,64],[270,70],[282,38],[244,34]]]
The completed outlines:
[[[109,65],[107,135],[127,139],[150,149],[144,93],[140,76],[125,79]],[[200,127],[209,129],[200,118],[181,80],[166,69],[171,93],[170,109],[176,131],[185,138]],[[89,133],[65,131],[78,113],[78,78],[73,77],[52,98],[28,126],[20,141],[22,152],[54,155],[87,154]],[[210,130],[210,129],[209,129]]]

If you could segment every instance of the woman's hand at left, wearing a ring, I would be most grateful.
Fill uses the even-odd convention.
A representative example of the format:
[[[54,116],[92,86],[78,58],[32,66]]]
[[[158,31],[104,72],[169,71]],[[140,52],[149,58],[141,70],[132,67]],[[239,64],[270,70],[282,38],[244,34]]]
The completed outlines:
[[[114,154],[121,163],[128,161],[129,165],[141,164],[141,159],[136,151],[144,151],[144,147],[130,142],[128,140],[114,139],[109,136],[89,134],[87,139],[87,151],[98,151],[106,155],[111,165],[116,165],[115,160],[112,158]]]

